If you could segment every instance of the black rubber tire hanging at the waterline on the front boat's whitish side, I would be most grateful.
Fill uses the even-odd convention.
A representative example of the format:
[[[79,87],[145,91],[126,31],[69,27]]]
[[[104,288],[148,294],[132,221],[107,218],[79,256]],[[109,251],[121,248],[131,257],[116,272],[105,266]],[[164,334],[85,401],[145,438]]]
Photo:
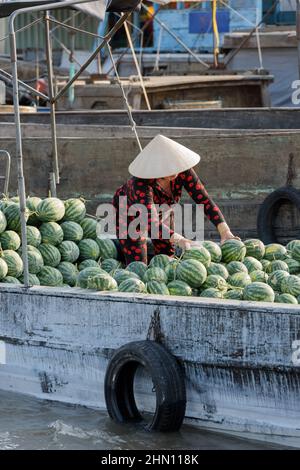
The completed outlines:
[[[181,366],[163,346],[154,341],[135,341],[118,349],[105,375],[105,401],[109,416],[117,423],[143,420],[134,397],[134,376],[142,365],[151,376],[156,410],[148,431],[178,431],[186,408],[185,380]]]

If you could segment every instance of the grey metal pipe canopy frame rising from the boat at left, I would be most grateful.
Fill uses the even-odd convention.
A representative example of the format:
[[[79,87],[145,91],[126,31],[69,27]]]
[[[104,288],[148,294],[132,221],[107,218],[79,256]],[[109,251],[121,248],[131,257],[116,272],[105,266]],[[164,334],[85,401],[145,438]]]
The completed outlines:
[[[59,22],[53,21],[50,16],[50,10],[57,10],[61,8],[71,7],[79,3],[87,3],[88,0],[66,0],[55,3],[47,3],[42,5],[36,5],[26,8],[21,8],[14,11],[9,16],[9,40],[10,40],[10,60],[12,66],[12,74],[0,70],[0,76],[5,76],[6,78],[12,79],[13,84],[13,104],[14,104],[14,115],[15,115],[15,128],[16,128],[16,160],[17,160],[17,172],[18,172],[18,194],[20,198],[20,218],[21,218],[21,240],[22,240],[22,258],[24,264],[24,287],[29,287],[29,271],[28,271],[28,250],[27,250],[27,234],[26,234],[26,190],[25,190],[25,178],[24,178],[24,167],[23,167],[23,148],[22,148],[22,134],[21,134],[21,119],[20,119],[20,105],[19,105],[19,86],[20,88],[25,88],[34,95],[41,97],[50,102],[50,117],[51,117],[51,137],[52,137],[52,169],[51,173],[51,193],[53,196],[56,195],[56,184],[59,183],[59,165],[58,165],[58,152],[57,152],[57,134],[56,134],[56,118],[55,118],[55,106],[58,99],[70,89],[72,84],[77,80],[81,73],[86,70],[86,68],[91,64],[91,62],[97,57],[101,49],[107,46],[110,50],[110,40],[114,34],[120,29],[121,26],[125,25],[127,18],[131,15],[134,10],[127,11],[122,14],[118,19],[116,24],[111,28],[111,30],[105,36],[99,36],[93,34],[101,40],[100,44],[95,48],[91,53],[89,58],[85,63],[80,67],[80,69],[75,73],[75,75],[66,83],[66,85],[57,93],[54,93],[53,86],[53,68],[52,68],[52,47],[51,47],[51,34],[50,34],[50,24]],[[44,21],[45,24],[45,40],[46,40],[46,59],[47,59],[47,71],[48,71],[48,89],[49,96],[35,90],[30,85],[22,82],[18,78],[18,65],[17,65],[17,45],[16,45],[16,30],[15,30],[15,20],[18,15],[22,13],[34,13],[34,12],[44,12],[43,18],[35,20],[30,25],[36,24],[40,21]],[[60,23],[59,23],[60,24]],[[61,24],[65,28],[68,28],[74,32],[83,32],[84,30],[79,30],[73,26]],[[28,25],[27,25],[28,27]]]

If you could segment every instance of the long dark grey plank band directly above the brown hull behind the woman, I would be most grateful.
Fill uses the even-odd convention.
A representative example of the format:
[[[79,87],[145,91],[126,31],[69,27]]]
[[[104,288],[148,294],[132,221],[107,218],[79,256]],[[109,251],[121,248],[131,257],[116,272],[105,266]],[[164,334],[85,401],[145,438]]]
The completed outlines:
[[[155,110],[133,111],[139,126],[190,127],[204,129],[300,129],[300,109],[297,108],[229,108],[213,110]],[[76,125],[128,125],[124,110],[59,111],[60,124]],[[23,114],[24,123],[49,124],[49,113]],[[13,114],[1,115],[1,122],[14,122]]]

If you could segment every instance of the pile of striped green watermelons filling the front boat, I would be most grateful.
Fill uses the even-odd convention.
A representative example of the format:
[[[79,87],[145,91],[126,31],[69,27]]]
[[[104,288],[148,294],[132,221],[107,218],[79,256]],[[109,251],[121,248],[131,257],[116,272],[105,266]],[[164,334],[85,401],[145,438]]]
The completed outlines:
[[[180,258],[160,254],[149,265],[122,266],[115,244],[97,237],[81,199],[27,199],[31,285],[96,291],[300,303],[300,240],[204,241]],[[18,198],[0,200],[0,282],[23,283]]]

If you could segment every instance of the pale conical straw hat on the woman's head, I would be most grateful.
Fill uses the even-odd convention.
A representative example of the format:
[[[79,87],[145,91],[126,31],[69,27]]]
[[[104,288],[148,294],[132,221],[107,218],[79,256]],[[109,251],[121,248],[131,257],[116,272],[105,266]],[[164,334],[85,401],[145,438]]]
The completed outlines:
[[[138,178],[164,178],[189,170],[200,156],[163,135],[157,135],[129,165],[129,173]]]

